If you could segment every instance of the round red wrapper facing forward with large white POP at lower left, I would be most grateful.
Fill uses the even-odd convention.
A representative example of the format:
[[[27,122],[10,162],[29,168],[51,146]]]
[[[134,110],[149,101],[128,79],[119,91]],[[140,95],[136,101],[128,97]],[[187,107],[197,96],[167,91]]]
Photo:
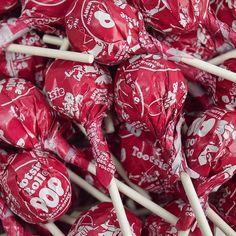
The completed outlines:
[[[39,151],[9,156],[1,192],[8,207],[23,220],[37,224],[60,218],[71,204],[65,166]]]

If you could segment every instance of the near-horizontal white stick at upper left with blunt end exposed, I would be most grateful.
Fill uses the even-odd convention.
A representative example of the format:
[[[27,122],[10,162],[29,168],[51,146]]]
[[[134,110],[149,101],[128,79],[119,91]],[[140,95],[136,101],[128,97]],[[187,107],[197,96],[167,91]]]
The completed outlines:
[[[62,50],[60,51],[57,49],[26,46],[20,44],[10,44],[8,47],[5,48],[5,50],[7,52],[17,52],[34,56],[49,57],[49,58],[56,58],[69,61],[79,61],[84,63],[92,63],[94,61],[93,55],[89,54],[78,53],[78,52],[67,52]]]

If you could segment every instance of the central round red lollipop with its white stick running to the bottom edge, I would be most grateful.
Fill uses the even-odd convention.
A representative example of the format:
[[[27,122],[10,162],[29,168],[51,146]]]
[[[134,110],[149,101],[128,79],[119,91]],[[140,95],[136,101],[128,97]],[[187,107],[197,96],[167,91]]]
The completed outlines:
[[[149,130],[159,139],[165,151],[163,158],[169,164],[168,181],[173,184],[181,179],[201,230],[211,235],[191,179],[186,174],[188,168],[181,146],[181,111],[187,94],[186,82],[176,65],[153,57],[136,56],[119,67],[115,80],[115,108],[124,121]]]

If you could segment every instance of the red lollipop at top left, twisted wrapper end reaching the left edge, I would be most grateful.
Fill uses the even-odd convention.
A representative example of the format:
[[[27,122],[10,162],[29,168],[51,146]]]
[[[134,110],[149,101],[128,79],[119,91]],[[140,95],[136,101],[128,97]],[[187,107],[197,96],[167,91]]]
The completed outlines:
[[[56,33],[64,23],[65,12],[73,0],[22,0],[22,13],[12,25],[0,28],[3,48],[31,29]]]

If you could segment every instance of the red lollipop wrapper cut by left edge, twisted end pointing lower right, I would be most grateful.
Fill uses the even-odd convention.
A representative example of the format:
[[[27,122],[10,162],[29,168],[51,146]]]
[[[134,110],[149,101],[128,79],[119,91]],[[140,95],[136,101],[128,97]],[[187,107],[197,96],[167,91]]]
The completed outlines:
[[[52,151],[66,162],[87,169],[83,154],[62,137],[46,99],[29,81],[2,80],[0,107],[1,140],[20,148]]]

